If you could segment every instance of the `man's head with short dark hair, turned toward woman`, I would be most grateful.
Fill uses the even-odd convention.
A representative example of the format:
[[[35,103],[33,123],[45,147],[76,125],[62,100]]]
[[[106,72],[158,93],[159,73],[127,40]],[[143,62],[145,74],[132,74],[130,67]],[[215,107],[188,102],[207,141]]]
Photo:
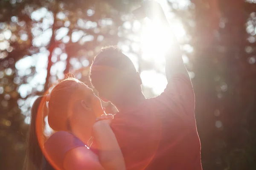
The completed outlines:
[[[140,74],[131,59],[113,46],[102,48],[94,58],[90,81],[103,100],[115,105],[142,93]]]

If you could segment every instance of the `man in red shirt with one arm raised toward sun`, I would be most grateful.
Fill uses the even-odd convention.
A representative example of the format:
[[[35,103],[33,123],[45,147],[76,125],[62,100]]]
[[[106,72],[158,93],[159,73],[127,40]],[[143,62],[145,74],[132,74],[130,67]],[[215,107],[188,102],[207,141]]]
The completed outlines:
[[[161,6],[154,3],[154,8],[167,26]],[[170,49],[166,53],[168,85],[151,99],[145,99],[131,60],[116,48],[102,49],[91,66],[92,85],[103,101],[111,101],[119,110],[111,128],[127,170],[202,169],[194,91],[179,46]]]

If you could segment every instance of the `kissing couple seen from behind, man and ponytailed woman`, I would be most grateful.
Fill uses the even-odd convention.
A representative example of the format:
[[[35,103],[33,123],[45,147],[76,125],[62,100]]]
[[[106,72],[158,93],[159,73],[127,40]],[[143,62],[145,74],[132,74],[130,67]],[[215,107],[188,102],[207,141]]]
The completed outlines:
[[[166,78],[163,93],[146,99],[131,60],[114,47],[102,49],[90,68],[100,99],[83,82],[68,78],[35,100],[25,169],[201,170],[195,96],[179,45],[166,52]],[[107,115],[101,100],[119,112]],[[48,102],[55,131],[44,143],[45,154],[35,132],[36,117],[46,108],[38,109],[42,102]]]

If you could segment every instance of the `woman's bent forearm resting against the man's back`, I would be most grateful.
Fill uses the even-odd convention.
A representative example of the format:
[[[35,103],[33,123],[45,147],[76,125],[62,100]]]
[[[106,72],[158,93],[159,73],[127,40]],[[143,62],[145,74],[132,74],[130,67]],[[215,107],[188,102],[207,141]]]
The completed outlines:
[[[109,124],[110,120],[101,120],[93,126],[94,139],[99,148],[99,160],[106,170],[125,170],[122,152]]]

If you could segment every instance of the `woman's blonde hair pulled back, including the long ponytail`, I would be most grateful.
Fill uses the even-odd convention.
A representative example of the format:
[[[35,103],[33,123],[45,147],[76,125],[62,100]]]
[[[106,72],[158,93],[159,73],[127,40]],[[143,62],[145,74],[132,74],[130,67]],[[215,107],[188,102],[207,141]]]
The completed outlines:
[[[43,160],[42,148],[44,142],[47,140],[47,137],[44,135],[44,118],[47,116],[47,113],[49,126],[53,130],[69,130],[67,107],[72,94],[75,93],[79,84],[83,83],[78,79],[69,77],[55,85],[51,94],[49,94],[48,109],[46,107],[46,96],[39,96],[35,100],[31,109],[23,170],[41,170]]]

